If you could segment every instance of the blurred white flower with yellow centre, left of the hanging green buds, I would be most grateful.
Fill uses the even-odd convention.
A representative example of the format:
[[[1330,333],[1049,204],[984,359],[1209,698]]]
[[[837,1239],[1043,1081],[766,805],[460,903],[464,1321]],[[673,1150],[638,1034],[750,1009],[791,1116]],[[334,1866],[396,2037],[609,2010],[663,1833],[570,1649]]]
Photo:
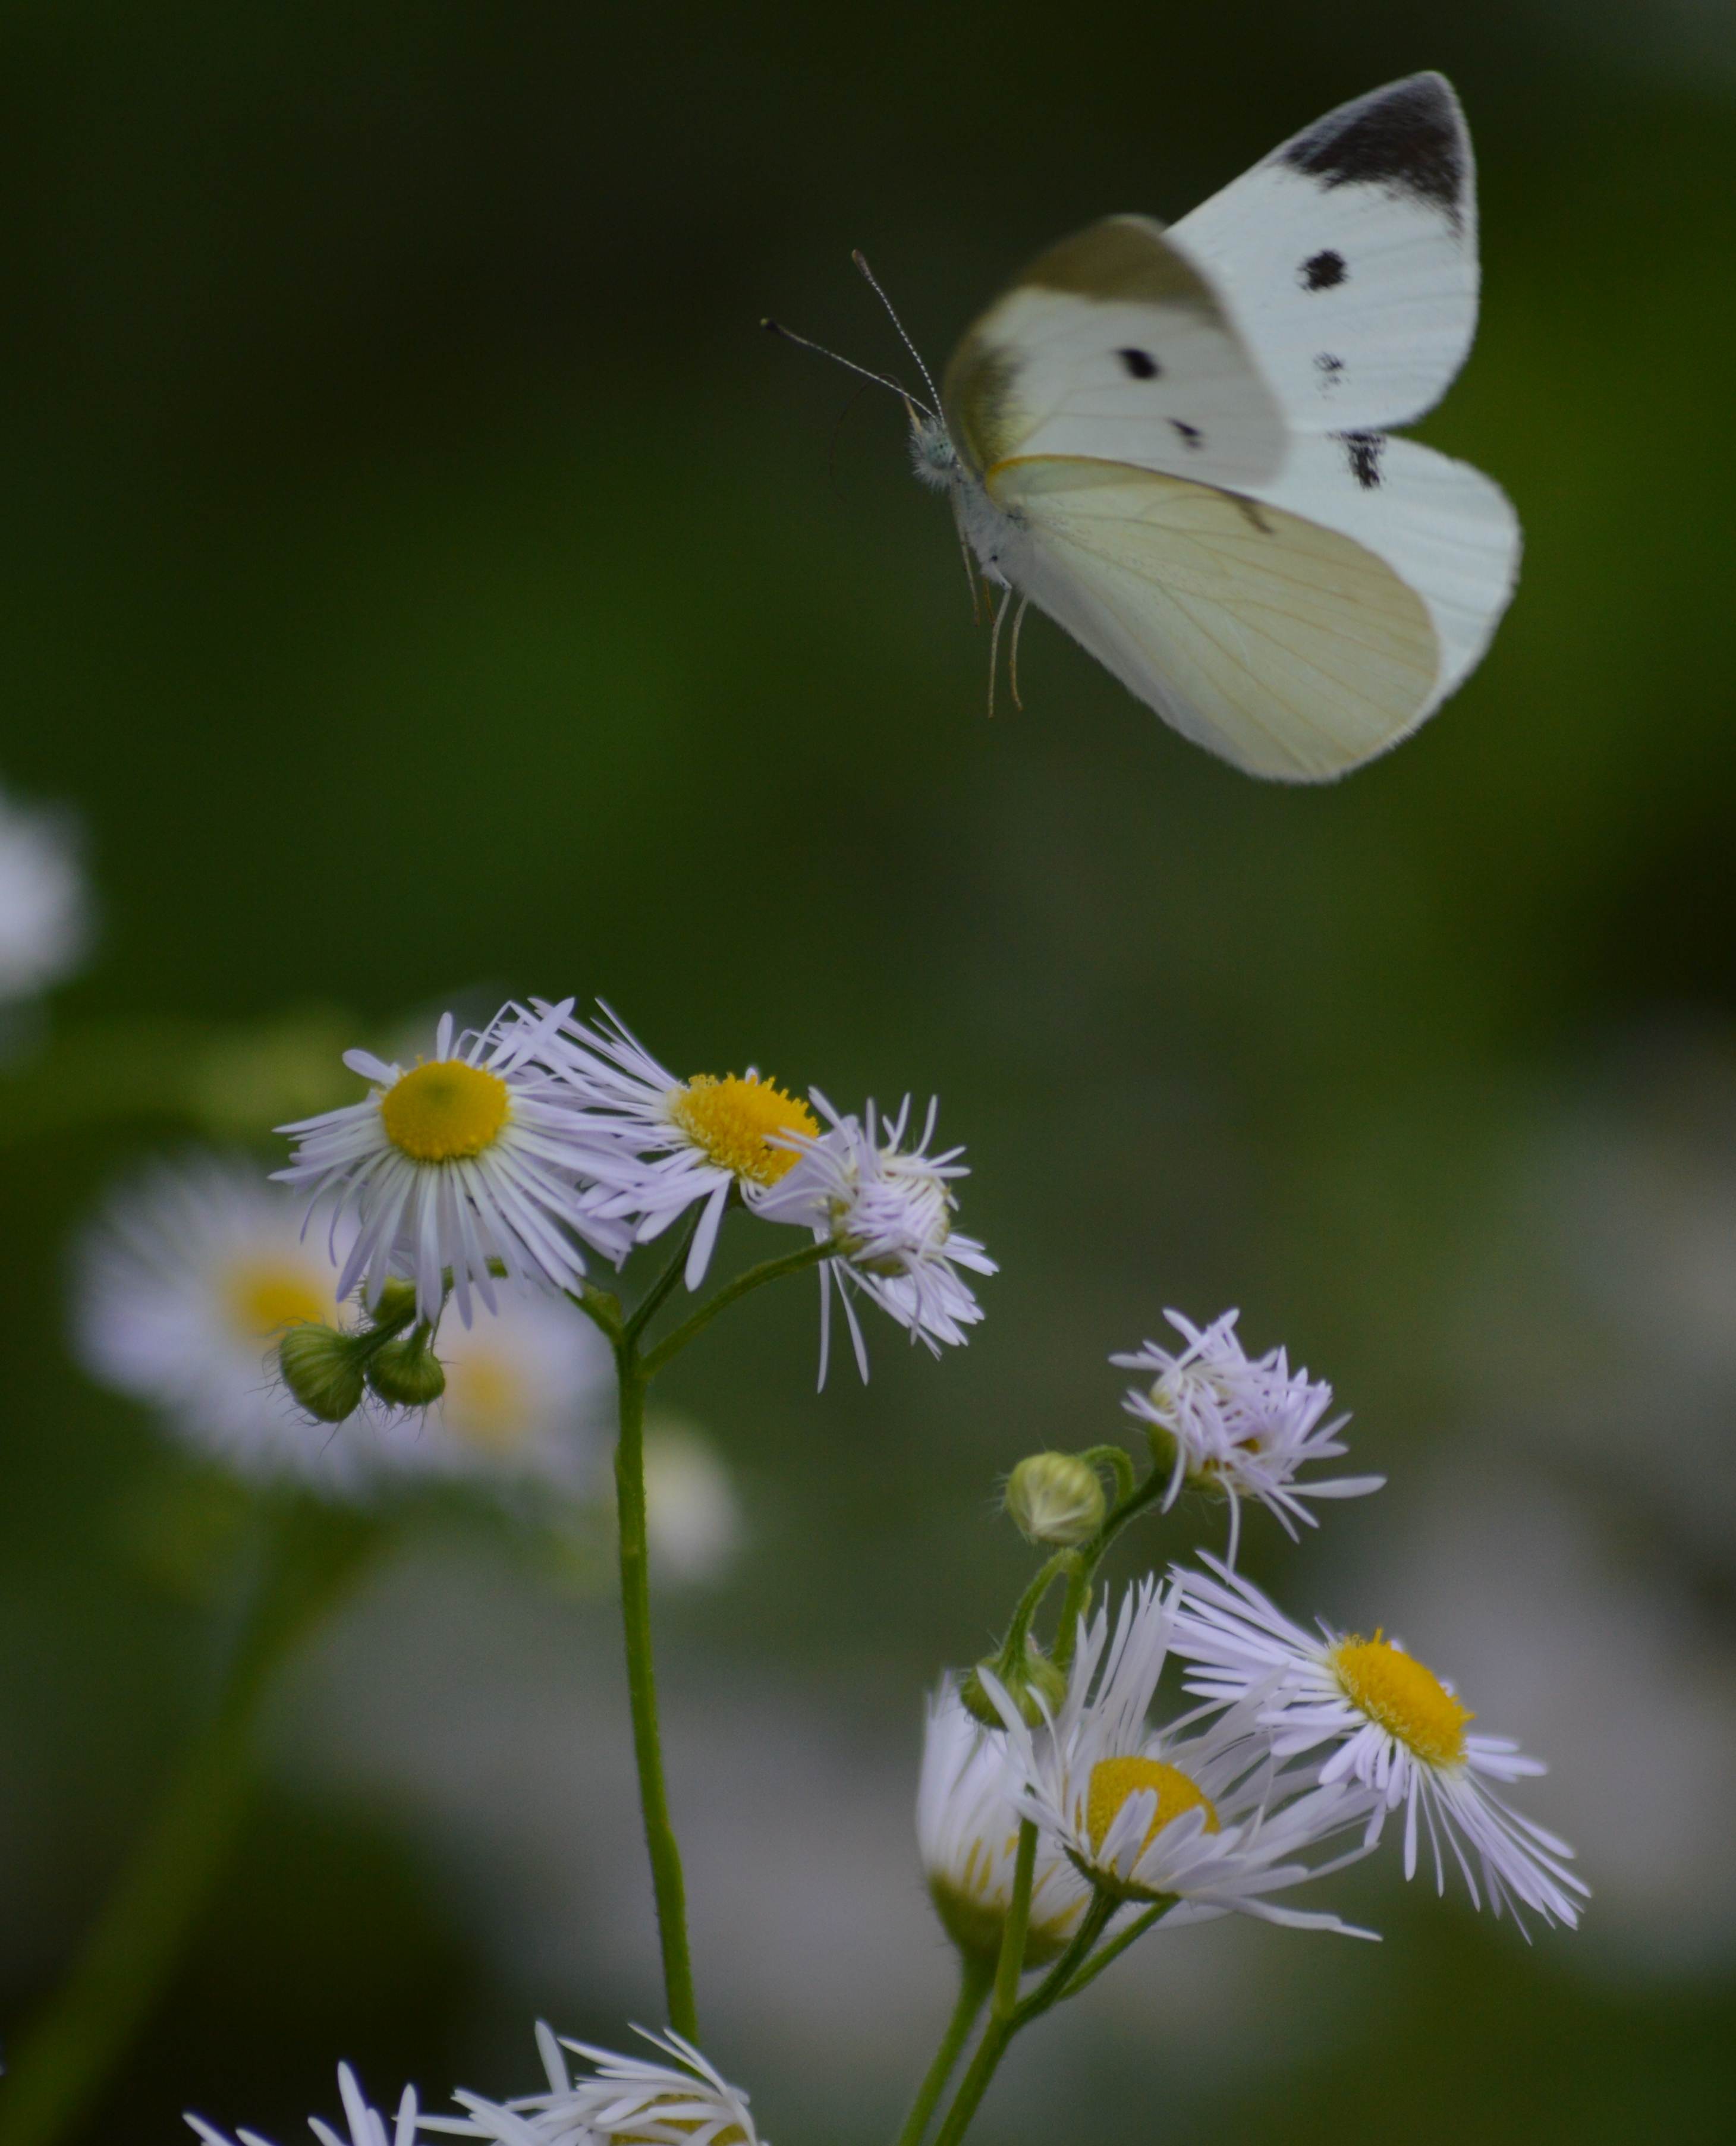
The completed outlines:
[[[367,1442],[311,1425],[273,1369],[307,1322],[339,1324],[330,1260],[303,1243],[300,1202],[249,1161],[152,1165],[79,1247],[73,1337],[92,1378],[242,1476],[350,1491]]]

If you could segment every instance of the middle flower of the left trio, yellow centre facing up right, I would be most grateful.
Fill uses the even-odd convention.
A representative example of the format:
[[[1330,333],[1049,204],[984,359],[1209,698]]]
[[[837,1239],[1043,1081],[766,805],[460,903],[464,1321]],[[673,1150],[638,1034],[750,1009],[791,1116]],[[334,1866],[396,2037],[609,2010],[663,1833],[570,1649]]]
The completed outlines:
[[[687,1288],[697,1290],[730,1195],[766,1191],[794,1170],[788,1142],[820,1131],[813,1112],[753,1067],[678,1079],[607,1006],[599,1028],[586,1028],[571,1019],[571,1000],[532,1004],[547,1017],[545,1062],[594,1150],[588,1212],[646,1245],[704,1202],[687,1253]]]

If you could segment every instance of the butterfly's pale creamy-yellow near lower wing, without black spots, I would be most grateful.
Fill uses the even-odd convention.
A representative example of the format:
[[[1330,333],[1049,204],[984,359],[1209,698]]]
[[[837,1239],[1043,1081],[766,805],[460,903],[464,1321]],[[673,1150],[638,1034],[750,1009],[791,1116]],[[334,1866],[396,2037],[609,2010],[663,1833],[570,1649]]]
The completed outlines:
[[[1412,730],[1442,648],[1363,543],[1227,491],[1077,457],[1004,461],[1019,586],[1185,736],[1251,775],[1324,781]]]

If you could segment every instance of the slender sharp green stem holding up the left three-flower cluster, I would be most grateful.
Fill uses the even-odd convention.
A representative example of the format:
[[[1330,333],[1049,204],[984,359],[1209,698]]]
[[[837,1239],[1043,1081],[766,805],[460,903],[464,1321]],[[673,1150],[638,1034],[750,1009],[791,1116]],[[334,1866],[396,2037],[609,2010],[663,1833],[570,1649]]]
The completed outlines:
[[[663,1781],[663,1743],[657,1732],[657,1665],[650,1652],[650,1560],[646,1543],[646,1386],[648,1358],[622,1335],[616,1346],[620,1384],[620,1440],[616,1444],[616,1509],[620,1513],[620,1620],[627,1635],[627,1697],[633,1710],[633,1762],[639,1773],[639,1811],[657,1897],[657,1938],[663,1946],[663,2000],[670,2026],[700,2039],[693,2004],[693,1957],[687,1946],[687,1880],[670,1820]],[[4,2140],[0,2140],[4,2146]]]

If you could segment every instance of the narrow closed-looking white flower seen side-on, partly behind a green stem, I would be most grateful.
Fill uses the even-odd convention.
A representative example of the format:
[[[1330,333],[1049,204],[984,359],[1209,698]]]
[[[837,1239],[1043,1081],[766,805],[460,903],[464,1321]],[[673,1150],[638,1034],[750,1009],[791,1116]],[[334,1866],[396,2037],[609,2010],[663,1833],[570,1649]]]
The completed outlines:
[[[968,1713],[951,1676],[929,1700],[916,1850],[946,1936],[966,1957],[998,1959],[1013,1904],[1019,1813],[1006,1798],[1006,1738]],[[1045,1846],[1030,1891],[1028,1966],[1060,1957],[1088,1897],[1066,1856]]]

